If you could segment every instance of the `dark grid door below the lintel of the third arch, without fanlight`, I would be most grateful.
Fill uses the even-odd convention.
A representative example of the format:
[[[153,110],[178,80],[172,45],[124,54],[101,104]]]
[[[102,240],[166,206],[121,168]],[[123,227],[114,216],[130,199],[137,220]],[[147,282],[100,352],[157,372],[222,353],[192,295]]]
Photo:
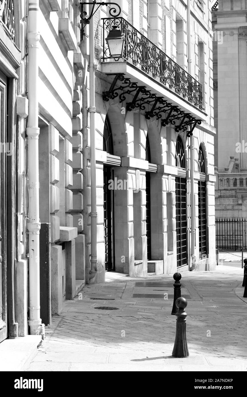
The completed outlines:
[[[176,177],[177,267],[187,264],[186,178]]]

